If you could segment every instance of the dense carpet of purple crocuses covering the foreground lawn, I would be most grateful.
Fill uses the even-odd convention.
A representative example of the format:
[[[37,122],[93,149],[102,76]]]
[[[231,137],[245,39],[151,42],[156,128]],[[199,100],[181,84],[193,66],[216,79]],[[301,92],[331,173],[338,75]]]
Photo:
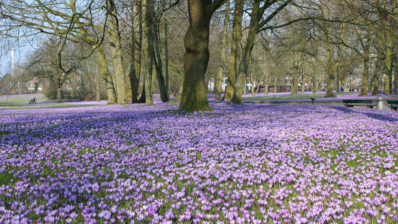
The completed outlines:
[[[0,113],[0,223],[398,222],[398,113],[211,103]]]

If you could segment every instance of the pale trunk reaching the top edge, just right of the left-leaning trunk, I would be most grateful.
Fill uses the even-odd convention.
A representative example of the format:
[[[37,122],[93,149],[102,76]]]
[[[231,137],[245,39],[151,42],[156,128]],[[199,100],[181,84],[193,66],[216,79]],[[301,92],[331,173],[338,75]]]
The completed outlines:
[[[126,75],[123,66],[123,50],[120,42],[119,21],[117,19],[116,6],[113,0],[107,0],[107,11],[109,13],[108,26],[110,29],[111,55],[113,70],[117,83],[117,97],[119,104],[127,104]]]

